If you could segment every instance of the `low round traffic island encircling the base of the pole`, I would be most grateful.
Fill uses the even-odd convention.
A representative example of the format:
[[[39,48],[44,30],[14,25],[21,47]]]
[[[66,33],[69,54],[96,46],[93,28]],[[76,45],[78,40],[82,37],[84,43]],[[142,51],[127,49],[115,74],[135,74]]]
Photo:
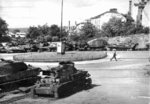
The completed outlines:
[[[56,52],[41,52],[15,55],[13,59],[25,62],[59,62],[96,60],[105,58],[106,56],[107,53],[103,51],[73,51],[66,52],[64,55],[57,54]]]

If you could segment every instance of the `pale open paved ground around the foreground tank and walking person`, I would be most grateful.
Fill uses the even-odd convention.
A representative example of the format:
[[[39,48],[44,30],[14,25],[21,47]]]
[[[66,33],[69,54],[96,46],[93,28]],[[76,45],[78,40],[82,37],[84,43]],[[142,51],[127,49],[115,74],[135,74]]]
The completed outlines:
[[[102,60],[76,62],[76,67],[89,71],[93,87],[66,98],[25,98],[12,104],[149,104],[150,78],[148,52],[120,52],[118,61],[110,61],[112,53]],[[46,68],[49,63],[30,63]],[[52,65],[57,65],[54,63]]]

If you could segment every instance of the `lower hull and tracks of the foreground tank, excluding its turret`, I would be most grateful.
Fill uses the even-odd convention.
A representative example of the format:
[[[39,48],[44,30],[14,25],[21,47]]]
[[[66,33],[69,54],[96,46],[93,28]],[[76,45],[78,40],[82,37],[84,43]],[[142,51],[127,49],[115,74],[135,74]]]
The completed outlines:
[[[78,71],[63,83],[44,83],[35,88],[35,95],[61,98],[91,86],[91,78],[86,77],[86,71]]]

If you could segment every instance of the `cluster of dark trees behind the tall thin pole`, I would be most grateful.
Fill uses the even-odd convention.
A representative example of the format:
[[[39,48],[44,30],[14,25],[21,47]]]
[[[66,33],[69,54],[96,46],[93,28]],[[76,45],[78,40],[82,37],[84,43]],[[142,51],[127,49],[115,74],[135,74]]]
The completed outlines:
[[[62,30],[62,34],[60,28],[57,25],[48,25],[38,26],[38,27],[30,27],[28,29],[27,38],[37,39],[40,42],[43,41],[59,41],[64,40],[68,36],[68,33],[65,29]]]

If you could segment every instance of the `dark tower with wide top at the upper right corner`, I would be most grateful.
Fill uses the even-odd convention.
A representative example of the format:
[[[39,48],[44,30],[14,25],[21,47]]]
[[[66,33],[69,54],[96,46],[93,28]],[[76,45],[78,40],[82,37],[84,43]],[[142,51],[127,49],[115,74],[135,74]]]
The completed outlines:
[[[142,12],[145,8],[145,5],[147,4],[149,0],[141,0],[139,3],[135,3],[134,5],[138,7],[138,14],[136,17],[136,25],[141,26],[142,25]]]

